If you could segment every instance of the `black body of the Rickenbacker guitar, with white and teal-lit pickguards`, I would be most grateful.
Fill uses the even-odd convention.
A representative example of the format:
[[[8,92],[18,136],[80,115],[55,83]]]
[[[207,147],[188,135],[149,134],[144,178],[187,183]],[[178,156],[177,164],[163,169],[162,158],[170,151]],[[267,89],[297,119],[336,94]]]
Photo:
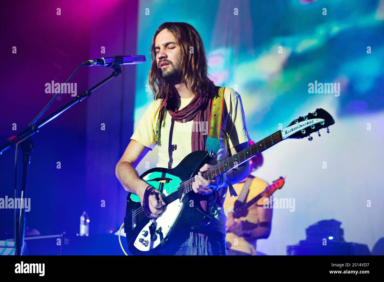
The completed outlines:
[[[150,222],[151,218],[147,218],[145,215],[143,216],[143,211],[141,209],[140,202],[131,200],[131,193],[129,193],[127,197],[127,208],[126,208],[126,216],[124,218],[124,231],[127,236],[128,250],[131,255],[160,255],[164,254],[164,250],[162,250],[162,246],[171,238],[172,232],[179,228],[186,229],[199,229],[206,225],[208,225],[211,221],[211,216],[204,211],[202,206],[200,205],[200,201],[207,201],[207,195],[198,195],[194,191],[190,191],[189,193],[182,193],[183,191],[179,189],[179,191],[174,192],[169,195],[169,193],[164,193],[164,190],[167,190],[167,185],[173,187],[176,185],[182,186],[184,181],[188,181],[197,175],[200,168],[205,164],[209,163],[211,160],[208,152],[206,151],[195,151],[187,155],[177,167],[174,168],[152,168],[144,172],[140,177],[144,179],[146,176],[150,175],[149,178],[146,178],[146,182],[162,191],[163,200],[166,202],[166,206],[163,207],[163,212],[158,216],[158,218],[154,218],[155,222]],[[181,180],[181,183],[180,183]],[[154,181],[157,182],[156,187]],[[172,181],[176,181],[177,183],[172,183]],[[133,194],[134,195],[134,194]],[[167,196],[166,196],[167,195]],[[179,204],[180,211],[172,212],[172,210],[168,209],[169,204]],[[140,216],[137,216],[137,210],[140,210]],[[174,221],[171,223],[160,223],[160,219],[163,218],[172,218],[170,221]],[[165,220],[165,222],[169,222]],[[149,226],[148,224],[151,223]],[[164,225],[166,224],[166,225]],[[148,226],[146,228],[146,226]],[[169,230],[164,232],[169,226]],[[159,229],[161,227],[161,229]],[[144,246],[143,242],[138,242],[137,238],[141,236],[142,233],[146,233],[142,231],[144,229],[147,230],[147,235],[143,236],[143,242],[148,241],[148,246]],[[140,238],[139,238],[140,239]],[[143,246],[141,246],[141,244]],[[152,244],[152,246],[151,246]],[[143,250],[139,250],[137,246],[141,247]]]

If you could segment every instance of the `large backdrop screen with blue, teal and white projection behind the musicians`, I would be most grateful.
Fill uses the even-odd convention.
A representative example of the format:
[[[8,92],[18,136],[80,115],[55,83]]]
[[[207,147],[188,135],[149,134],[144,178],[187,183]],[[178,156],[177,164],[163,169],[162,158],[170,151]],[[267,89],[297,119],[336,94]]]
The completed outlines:
[[[341,221],[346,241],[372,249],[384,236],[384,1],[141,0],[138,53],[148,54],[165,21],[199,31],[210,78],[241,95],[252,140],[320,107],[336,120],[330,134],[321,130],[311,142],[287,140],[264,153],[255,176],[271,183],[287,175],[275,198],[295,205],[273,211],[271,235],[258,241],[258,251],[284,255],[323,219]],[[150,66],[137,68],[135,128],[152,101]],[[339,88],[311,93],[310,83]],[[157,147],[139,172],[145,162],[156,166]]]

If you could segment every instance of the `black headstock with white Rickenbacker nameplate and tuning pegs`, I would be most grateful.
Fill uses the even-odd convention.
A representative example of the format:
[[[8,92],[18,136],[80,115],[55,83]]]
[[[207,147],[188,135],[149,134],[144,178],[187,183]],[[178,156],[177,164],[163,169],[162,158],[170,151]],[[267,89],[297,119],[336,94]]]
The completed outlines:
[[[310,136],[313,132],[318,132],[323,128],[327,128],[327,133],[329,133],[329,125],[335,123],[333,117],[323,109],[316,109],[316,111],[308,113],[304,117],[299,117],[298,119],[293,120],[293,122],[288,125],[285,129],[281,130],[281,135],[283,139],[287,138],[304,138],[308,136],[308,140],[313,138]]]

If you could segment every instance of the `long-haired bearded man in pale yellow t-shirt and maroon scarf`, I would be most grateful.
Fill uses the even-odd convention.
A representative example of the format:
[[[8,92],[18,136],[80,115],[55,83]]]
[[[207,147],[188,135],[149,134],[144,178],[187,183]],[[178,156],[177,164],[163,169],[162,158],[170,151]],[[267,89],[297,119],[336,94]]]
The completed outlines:
[[[148,184],[135,170],[142,158],[156,144],[159,147],[157,167],[174,168],[196,150],[205,150],[211,120],[215,85],[207,76],[207,57],[199,33],[188,23],[166,22],[157,28],[150,50],[152,66],[149,85],[154,101],[149,104],[134,131],[124,154],[116,165],[116,176],[124,189],[139,196],[147,217],[155,218],[165,205],[155,188],[144,193]],[[248,175],[244,162],[214,180],[202,173],[218,162],[248,147],[250,140],[240,95],[225,87],[220,129],[220,148],[209,164],[195,175],[192,189],[209,195],[206,208],[215,206],[212,221],[197,230],[179,228],[166,242],[168,254],[226,255],[225,213],[222,208],[228,183],[237,183]],[[181,126],[182,125],[182,126]],[[200,125],[196,126],[196,125]],[[204,130],[205,129],[205,130]],[[145,199],[144,199],[145,195]]]

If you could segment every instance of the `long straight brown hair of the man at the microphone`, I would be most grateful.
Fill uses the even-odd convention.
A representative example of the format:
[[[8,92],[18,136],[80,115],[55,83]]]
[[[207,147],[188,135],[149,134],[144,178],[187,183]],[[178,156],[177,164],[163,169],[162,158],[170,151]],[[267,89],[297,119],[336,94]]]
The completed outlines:
[[[180,22],[165,22],[162,23],[156,30],[152,39],[151,50],[149,56],[152,60],[152,66],[149,70],[149,85],[151,86],[154,99],[164,98],[169,89],[170,82],[162,78],[159,73],[159,68],[156,63],[155,39],[162,30],[168,30],[172,33],[181,49],[181,77],[182,83],[190,83],[190,90],[197,95],[206,91],[210,91],[214,83],[207,76],[207,54],[205,53],[203,41],[197,30],[189,23]],[[193,47],[193,53],[189,52],[190,47]]]

